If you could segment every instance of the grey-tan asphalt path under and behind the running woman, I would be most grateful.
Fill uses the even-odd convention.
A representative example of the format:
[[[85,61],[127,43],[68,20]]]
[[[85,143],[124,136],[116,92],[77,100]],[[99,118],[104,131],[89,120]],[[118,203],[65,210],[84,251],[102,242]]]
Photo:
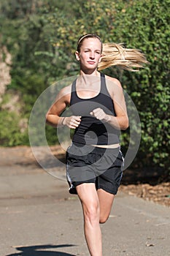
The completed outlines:
[[[0,255],[89,255],[77,196],[65,181],[12,152],[0,148]],[[118,192],[101,230],[104,256],[170,255],[165,206]]]

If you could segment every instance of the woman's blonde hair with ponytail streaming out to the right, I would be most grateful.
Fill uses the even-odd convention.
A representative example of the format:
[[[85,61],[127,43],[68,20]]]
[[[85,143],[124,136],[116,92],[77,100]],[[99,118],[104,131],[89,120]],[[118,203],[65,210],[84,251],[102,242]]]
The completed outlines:
[[[97,38],[101,39],[96,34],[85,34],[77,42],[77,51],[80,48],[84,39]],[[123,44],[104,43],[101,42],[102,58],[98,63],[98,70],[106,69],[107,67],[120,66],[123,69],[130,71],[139,71],[140,67],[147,64],[148,61],[140,50],[125,48]],[[135,69],[134,69],[135,68]]]

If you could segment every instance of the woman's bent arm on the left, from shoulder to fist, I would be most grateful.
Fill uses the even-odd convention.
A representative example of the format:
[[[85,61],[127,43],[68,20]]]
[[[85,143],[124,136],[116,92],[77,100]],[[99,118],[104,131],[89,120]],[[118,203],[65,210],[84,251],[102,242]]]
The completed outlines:
[[[68,93],[69,91],[69,93]],[[81,116],[60,116],[66,106],[70,104],[71,86],[64,87],[58,93],[55,102],[50,107],[46,115],[46,123],[52,127],[61,127],[66,125],[69,128],[76,129],[81,121]]]

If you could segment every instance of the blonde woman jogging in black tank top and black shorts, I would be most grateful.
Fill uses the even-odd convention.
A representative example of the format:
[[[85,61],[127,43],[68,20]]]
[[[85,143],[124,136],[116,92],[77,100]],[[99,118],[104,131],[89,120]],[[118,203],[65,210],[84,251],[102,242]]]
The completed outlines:
[[[115,64],[125,69],[142,67],[147,61],[138,50],[102,44],[96,34],[80,37],[75,54],[80,76],[61,89],[46,118],[53,127],[75,129],[66,152],[69,192],[77,194],[82,203],[90,255],[101,256],[100,223],[107,221],[120,185],[123,157],[119,134],[128,128],[128,115],[119,80],[98,70]],[[63,117],[67,106],[72,116]]]

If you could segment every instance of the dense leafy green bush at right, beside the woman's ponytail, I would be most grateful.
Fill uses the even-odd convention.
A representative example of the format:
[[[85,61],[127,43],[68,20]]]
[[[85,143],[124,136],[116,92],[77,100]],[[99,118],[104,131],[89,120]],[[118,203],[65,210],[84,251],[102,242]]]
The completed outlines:
[[[131,95],[142,123],[139,156],[169,169],[169,1],[131,1],[112,31],[128,47],[141,49],[149,66],[134,74],[125,72],[123,84]],[[168,8],[168,9],[167,9]],[[142,15],[141,15],[142,13]]]

